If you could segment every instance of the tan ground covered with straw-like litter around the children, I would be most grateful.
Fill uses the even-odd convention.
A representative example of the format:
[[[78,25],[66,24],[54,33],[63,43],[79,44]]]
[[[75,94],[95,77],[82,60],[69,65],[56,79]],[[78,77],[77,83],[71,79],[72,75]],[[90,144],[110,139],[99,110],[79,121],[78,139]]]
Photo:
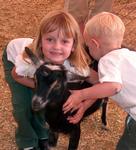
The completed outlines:
[[[93,7],[93,3],[91,5]],[[34,37],[38,23],[51,10],[63,8],[63,0],[0,0],[0,57],[6,43],[18,37]],[[115,0],[113,12],[126,25],[124,44],[136,49],[136,2]],[[17,150],[14,138],[16,123],[12,116],[11,95],[4,81],[0,59],[0,150]],[[108,104],[108,130],[101,129],[101,111],[85,119],[79,150],[114,150],[123,132],[126,113],[112,101]],[[66,150],[68,139],[60,135],[56,150]]]

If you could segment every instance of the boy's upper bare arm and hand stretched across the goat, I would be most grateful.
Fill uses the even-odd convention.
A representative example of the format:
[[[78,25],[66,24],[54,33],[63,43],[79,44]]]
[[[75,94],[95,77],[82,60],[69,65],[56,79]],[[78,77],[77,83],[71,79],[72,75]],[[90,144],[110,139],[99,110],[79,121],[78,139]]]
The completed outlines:
[[[73,91],[66,103],[63,105],[64,113],[77,109],[77,106],[85,100],[109,97],[117,94],[122,88],[121,83],[104,82],[92,87]]]

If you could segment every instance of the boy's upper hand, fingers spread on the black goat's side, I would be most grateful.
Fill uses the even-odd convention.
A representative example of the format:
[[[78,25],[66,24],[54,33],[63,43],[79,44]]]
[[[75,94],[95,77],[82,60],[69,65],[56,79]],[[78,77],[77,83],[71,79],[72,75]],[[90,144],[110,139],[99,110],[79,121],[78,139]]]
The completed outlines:
[[[68,111],[76,110],[81,102],[82,102],[81,91],[80,90],[71,91],[71,95],[63,105],[64,114],[67,113]]]

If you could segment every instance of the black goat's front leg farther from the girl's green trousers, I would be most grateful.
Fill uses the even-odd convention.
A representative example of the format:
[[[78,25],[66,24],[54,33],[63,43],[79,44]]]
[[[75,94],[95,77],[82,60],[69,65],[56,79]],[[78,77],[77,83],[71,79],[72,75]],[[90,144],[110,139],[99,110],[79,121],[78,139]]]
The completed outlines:
[[[77,150],[80,139],[80,132],[80,124],[75,125],[70,132],[68,150]]]

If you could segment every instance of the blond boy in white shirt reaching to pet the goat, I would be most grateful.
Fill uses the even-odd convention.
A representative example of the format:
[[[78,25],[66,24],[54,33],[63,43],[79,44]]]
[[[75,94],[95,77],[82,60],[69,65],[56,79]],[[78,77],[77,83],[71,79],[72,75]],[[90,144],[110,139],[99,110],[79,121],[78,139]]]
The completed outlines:
[[[99,60],[99,82],[93,87],[73,91],[64,104],[64,113],[77,109],[83,101],[93,104],[97,98],[110,97],[127,113],[125,130],[117,150],[136,149],[136,52],[121,48],[125,32],[122,20],[108,12],[102,12],[85,25],[84,39],[91,56]],[[89,80],[89,79],[88,79]],[[78,111],[68,118],[78,122],[82,115]]]

